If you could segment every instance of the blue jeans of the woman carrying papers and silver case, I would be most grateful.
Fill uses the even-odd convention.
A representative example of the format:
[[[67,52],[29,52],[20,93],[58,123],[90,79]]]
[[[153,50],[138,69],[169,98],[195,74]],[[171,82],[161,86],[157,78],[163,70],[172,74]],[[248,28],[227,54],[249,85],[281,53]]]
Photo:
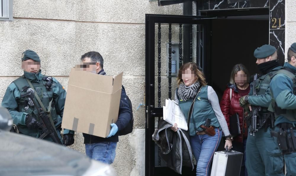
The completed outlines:
[[[207,176],[209,174],[210,163],[213,159],[214,152],[217,150],[222,138],[221,130],[215,128],[216,134],[194,135],[190,136],[190,145],[194,158],[197,162],[196,175]]]

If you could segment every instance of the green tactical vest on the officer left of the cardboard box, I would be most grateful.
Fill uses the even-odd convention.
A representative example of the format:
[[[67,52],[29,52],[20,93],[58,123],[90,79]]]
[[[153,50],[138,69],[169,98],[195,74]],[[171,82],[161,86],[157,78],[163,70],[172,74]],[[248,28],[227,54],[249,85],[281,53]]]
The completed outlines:
[[[46,77],[46,76],[43,76]],[[25,93],[27,93],[25,90],[23,90],[24,88],[30,88],[30,85],[28,84],[26,78],[24,76],[21,76],[19,78],[17,78],[16,80],[13,81],[13,83],[15,83],[15,85],[17,86],[17,88],[20,90],[20,96],[24,95]],[[44,109],[44,111],[47,111],[49,106],[52,106],[50,109],[50,114],[52,117],[52,120],[54,122],[54,124],[57,123],[57,112],[54,106],[54,100],[52,101],[52,104],[49,105],[49,102],[52,100],[53,98],[53,90],[52,88],[50,90],[46,90],[46,81],[42,80],[40,83],[38,82],[31,82],[33,87],[34,87],[34,91],[36,91],[36,93],[39,96],[39,99],[41,100],[42,104],[44,105],[44,107],[46,109]],[[19,98],[17,99],[17,104],[18,104],[18,112],[25,112],[28,114],[31,114],[34,118],[36,118],[37,121],[40,121],[39,117],[38,117],[38,111],[35,107],[30,107],[28,105],[28,100],[29,98]],[[35,99],[36,103],[38,104],[38,101]],[[26,107],[28,106],[28,107]],[[38,108],[40,108],[41,106],[38,104]],[[26,107],[26,108],[25,108]],[[26,125],[18,125],[17,126],[19,131],[25,135],[30,135],[30,136],[37,136],[38,135],[38,130],[37,129],[28,129],[28,127]]]

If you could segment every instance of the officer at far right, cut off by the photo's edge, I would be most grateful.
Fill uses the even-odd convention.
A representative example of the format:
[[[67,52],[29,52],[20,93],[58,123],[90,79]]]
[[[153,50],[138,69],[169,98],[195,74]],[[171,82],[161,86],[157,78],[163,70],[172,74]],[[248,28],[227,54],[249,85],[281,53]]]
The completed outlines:
[[[286,175],[296,175],[296,43],[288,49],[288,62],[276,72],[270,82],[271,105],[275,113],[272,135],[279,145],[286,163]],[[294,131],[295,130],[295,131]]]

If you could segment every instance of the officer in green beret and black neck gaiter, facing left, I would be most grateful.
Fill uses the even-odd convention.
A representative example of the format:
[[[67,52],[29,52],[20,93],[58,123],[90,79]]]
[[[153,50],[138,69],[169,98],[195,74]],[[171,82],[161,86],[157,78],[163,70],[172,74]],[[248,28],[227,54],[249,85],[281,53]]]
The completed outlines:
[[[284,175],[283,157],[271,136],[271,130],[274,128],[274,116],[267,110],[271,102],[269,93],[271,76],[283,67],[276,60],[277,52],[274,46],[263,45],[254,51],[254,56],[257,58],[256,64],[262,75],[255,81],[255,86],[254,82],[251,83],[249,95],[239,99],[244,109],[247,110],[248,106],[252,105],[250,110],[258,110],[257,122],[254,123],[257,130],[251,131],[252,125],[250,125],[249,132],[252,135],[247,138],[246,144],[248,175]],[[257,96],[253,95],[254,87]]]

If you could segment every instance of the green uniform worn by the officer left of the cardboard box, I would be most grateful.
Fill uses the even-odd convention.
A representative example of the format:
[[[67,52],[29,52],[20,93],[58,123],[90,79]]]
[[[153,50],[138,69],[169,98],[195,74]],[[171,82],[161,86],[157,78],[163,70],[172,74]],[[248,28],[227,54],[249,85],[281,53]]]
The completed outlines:
[[[30,55],[29,57],[34,58]],[[38,59],[34,59],[34,61],[38,62]],[[21,97],[23,94],[27,93],[26,90],[30,88],[30,84],[27,82],[27,80],[30,81],[34,88],[34,91],[36,91],[39,99],[46,108],[44,111],[50,111],[50,115],[56,127],[58,137],[63,143],[60,134],[60,126],[62,123],[66,91],[55,78],[52,78],[52,85],[49,89],[47,89],[46,83],[48,81],[44,80],[43,78],[46,78],[46,76],[41,74],[41,70],[39,70],[37,74],[24,71],[24,75],[14,80],[8,86],[4,98],[2,100],[1,106],[8,109],[9,113],[12,116],[13,123],[17,125],[20,133],[35,138],[39,138],[40,135],[42,135],[41,130],[37,127],[29,129],[25,124],[26,117],[28,117],[28,115],[31,115],[39,122],[41,121],[38,118],[38,111],[36,107],[30,104],[28,98]],[[38,108],[40,107],[41,106],[39,105]],[[74,134],[74,131],[65,129],[64,134]],[[49,136],[46,136],[44,139],[52,141],[52,139]]]

